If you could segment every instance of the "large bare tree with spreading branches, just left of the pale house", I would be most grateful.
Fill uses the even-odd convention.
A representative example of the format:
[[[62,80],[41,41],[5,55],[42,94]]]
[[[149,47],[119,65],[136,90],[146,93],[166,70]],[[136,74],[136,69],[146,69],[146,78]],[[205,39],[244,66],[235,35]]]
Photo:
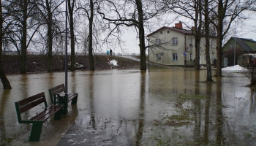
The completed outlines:
[[[163,6],[158,1],[108,1],[102,0],[98,13],[108,20],[110,33],[121,33],[120,26],[134,27],[140,41],[140,70],[146,70],[145,28],[146,20],[156,17]],[[113,28],[110,27],[113,25]],[[119,36],[117,36],[119,37]],[[108,38],[107,38],[108,39]]]

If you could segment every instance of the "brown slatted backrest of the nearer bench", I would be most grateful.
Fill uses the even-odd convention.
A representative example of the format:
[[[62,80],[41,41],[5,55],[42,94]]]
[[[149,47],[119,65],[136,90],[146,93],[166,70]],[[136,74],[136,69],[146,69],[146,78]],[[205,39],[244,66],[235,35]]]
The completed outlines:
[[[46,102],[45,99],[45,93],[38,93],[34,96],[30,96],[29,98],[20,100],[15,102],[15,107],[16,107],[16,112],[17,112],[17,116],[18,116],[18,122],[21,123],[21,116],[20,114],[23,112],[26,112],[28,110],[30,110],[33,107],[36,107],[38,104],[45,104],[45,107],[48,107],[48,104]]]

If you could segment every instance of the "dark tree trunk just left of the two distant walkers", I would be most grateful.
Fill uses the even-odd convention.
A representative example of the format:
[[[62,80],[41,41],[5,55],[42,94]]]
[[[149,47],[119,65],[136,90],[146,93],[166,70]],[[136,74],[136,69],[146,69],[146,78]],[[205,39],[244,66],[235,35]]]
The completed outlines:
[[[94,56],[92,55],[92,25],[94,20],[94,4],[93,0],[90,0],[91,16],[89,18],[89,61],[90,70],[95,70],[94,68]]]

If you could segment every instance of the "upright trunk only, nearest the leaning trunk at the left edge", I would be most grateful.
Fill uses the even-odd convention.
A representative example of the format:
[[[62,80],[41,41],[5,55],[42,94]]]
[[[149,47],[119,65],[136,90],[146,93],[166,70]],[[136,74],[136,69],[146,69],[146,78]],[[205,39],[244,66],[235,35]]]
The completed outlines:
[[[27,24],[26,20],[28,18],[28,1],[25,0],[23,2],[23,6],[21,6],[23,9],[23,21],[22,21],[22,37],[21,37],[21,56],[20,56],[20,74],[26,74],[26,30],[27,30]]]

